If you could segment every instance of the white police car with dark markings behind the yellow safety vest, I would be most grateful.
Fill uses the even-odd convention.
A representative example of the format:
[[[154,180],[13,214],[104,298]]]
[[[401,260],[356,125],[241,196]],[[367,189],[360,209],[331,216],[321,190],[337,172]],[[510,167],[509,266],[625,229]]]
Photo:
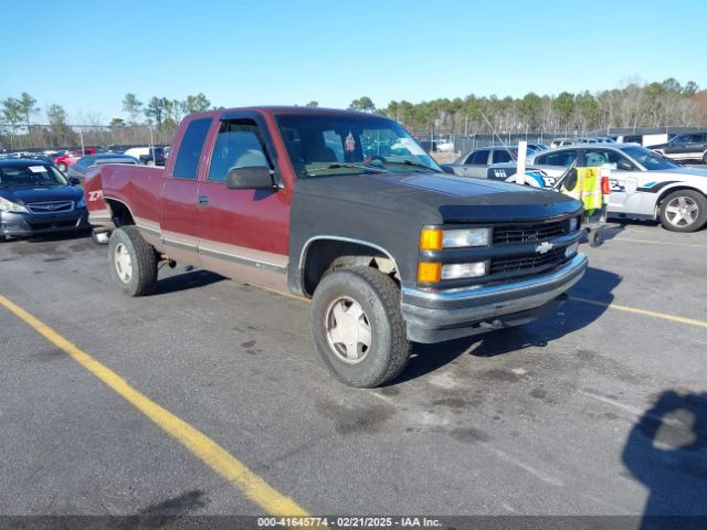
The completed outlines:
[[[659,220],[673,232],[707,224],[707,171],[678,166],[636,144],[572,145],[532,153],[526,184],[552,188],[572,165],[612,169],[609,216]],[[515,163],[495,165],[487,178],[515,182]]]

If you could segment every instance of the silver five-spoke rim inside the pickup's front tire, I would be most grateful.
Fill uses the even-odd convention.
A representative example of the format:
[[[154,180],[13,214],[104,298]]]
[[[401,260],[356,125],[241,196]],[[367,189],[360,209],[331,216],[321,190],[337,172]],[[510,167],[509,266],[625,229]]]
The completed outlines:
[[[341,361],[361,362],[371,349],[371,325],[361,305],[348,296],[335,299],[325,314],[329,348]]]

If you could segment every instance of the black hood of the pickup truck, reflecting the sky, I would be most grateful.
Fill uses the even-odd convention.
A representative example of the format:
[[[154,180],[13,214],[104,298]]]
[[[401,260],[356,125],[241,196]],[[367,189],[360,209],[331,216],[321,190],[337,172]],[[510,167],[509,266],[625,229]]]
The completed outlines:
[[[302,179],[295,193],[412,214],[429,224],[553,218],[581,208],[549,190],[436,172]]]

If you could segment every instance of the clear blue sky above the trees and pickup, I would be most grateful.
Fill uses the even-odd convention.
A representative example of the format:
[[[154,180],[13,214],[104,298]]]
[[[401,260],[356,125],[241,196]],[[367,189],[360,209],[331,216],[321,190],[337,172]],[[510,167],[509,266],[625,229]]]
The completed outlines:
[[[76,123],[134,92],[226,107],[346,107],[370,96],[595,92],[631,78],[707,87],[707,2],[8,2],[0,98],[29,92]]]

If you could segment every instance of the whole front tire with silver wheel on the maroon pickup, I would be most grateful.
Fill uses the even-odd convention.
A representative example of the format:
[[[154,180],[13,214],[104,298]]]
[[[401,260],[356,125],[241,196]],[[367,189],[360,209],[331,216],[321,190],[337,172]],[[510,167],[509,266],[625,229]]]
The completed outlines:
[[[400,310],[400,288],[371,267],[341,268],[317,286],[312,337],[319,359],[339,381],[371,389],[405,368],[411,344]]]

